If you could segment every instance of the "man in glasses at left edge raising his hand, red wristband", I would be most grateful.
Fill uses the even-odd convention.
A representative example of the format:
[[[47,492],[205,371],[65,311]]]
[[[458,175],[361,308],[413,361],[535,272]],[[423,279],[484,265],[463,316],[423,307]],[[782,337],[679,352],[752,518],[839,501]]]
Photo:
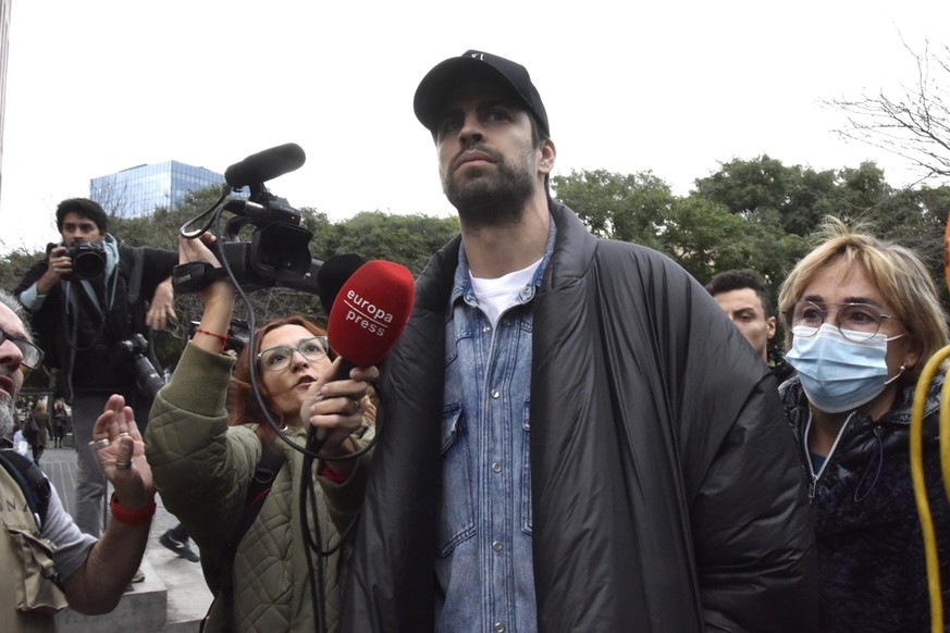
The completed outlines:
[[[37,466],[10,455],[14,452],[13,408],[23,386],[23,368],[37,369],[41,360],[42,351],[33,343],[20,306],[0,290],[3,633],[54,631],[55,612],[66,606],[88,615],[114,609],[141,562],[156,508],[145,445],[132,411],[119,396],[109,399],[94,429],[97,468],[115,491],[112,520],[101,538],[79,531]],[[22,470],[14,466],[16,457],[25,460]]]

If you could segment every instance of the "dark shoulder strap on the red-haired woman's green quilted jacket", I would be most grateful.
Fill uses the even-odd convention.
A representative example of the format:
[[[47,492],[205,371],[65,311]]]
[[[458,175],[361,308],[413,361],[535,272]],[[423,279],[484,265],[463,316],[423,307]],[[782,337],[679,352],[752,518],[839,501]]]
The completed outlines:
[[[284,466],[284,452],[272,445],[261,447],[260,461],[254,471],[254,479],[250,482],[250,487],[247,489],[247,500],[244,505],[244,512],[240,514],[240,520],[237,522],[237,529],[234,531],[234,536],[227,542],[224,553],[221,555],[221,564],[218,569],[218,587],[214,589],[214,599],[211,607],[208,608],[208,616],[201,621],[198,629],[202,631],[211,613],[211,609],[218,598],[223,596],[224,599],[224,618],[226,622],[225,631],[233,631],[233,622],[231,618],[234,613],[234,583],[231,570],[234,567],[234,556],[237,554],[237,545],[240,543],[244,535],[254,524],[255,519],[260,513],[264,500],[271,492],[274,480],[281,468]]]

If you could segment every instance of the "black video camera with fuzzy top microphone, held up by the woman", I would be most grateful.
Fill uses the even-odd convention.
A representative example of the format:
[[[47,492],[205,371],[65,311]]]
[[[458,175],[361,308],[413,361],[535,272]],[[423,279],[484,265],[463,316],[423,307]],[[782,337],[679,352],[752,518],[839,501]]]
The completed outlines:
[[[304,164],[306,157],[300,146],[288,142],[245,158],[224,172],[226,185],[218,202],[211,209],[186,222],[181,235],[198,238],[207,232],[222,212],[234,216],[227,221],[219,240],[211,246],[222,263],[215,269],[207,262],[178,264],[172,272],[176,293],[196,293],[215,280],[230,274],[245,290],[282,286],[308,293],[317,293],[317,272],[323,262],[310,256],[309,244],[313,234],[300,226],[300,212],[284,198],[272,196],[264,182],[292,172]],[[222,204],[231,190],[248,187],[247,200],[230,199]],[[188,226],[205,215],[209,222],[198,231]],[[240,241],[240,229],[256,226],[250,241]]]

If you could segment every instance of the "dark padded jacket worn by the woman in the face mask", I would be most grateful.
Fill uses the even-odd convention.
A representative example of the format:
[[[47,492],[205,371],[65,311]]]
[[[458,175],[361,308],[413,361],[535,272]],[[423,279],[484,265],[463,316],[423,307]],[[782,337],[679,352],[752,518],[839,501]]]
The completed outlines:
[[[950,606],[950,504],[939,455],[940,388],[930,385],[924,407],[924,472],[939,545],[943,609]],[[905,386],[877,422],[856,412],[848,421],[821,476],[812,506],[822,578],[821,624],[835,633],[930,630],[924,542],[910,468],[914,385]],[[809,402],[798,377],[785,383],[782,401],[807,456]],[[807,464],[804,464],[807,471]],[[807,471],[811,472],[811,471]]]

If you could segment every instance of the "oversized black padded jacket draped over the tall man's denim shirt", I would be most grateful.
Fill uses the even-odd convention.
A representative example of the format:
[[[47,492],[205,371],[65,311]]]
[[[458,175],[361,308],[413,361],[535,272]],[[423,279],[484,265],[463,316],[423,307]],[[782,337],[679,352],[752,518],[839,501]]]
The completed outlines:
[[[551,210],[557,241],[534,298],[530,410],[539,629],[811,631],[813,528],[768,369],[682,269]],[[458,247],[418,280],[386,362],[342,631],[433,630]]]

